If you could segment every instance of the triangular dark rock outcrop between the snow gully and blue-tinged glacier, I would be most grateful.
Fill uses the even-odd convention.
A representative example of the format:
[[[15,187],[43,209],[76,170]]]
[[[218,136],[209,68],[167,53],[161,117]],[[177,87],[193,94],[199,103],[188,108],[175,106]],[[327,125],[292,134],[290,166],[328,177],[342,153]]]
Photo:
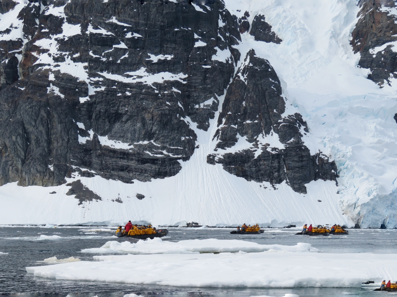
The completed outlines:
[[[281,116],[285,102],[279,78],[267,60],[251,49],[227,89],[219,129],[215,137],[216,154],[207,156],[208,164],[220,163],[224,169],[248,181],[276,184],[286,181],[294,191],[306,193],[304,184],[313,180],[336,181],[335,162],[318,152],[310,155],[302,133],[308,133],[306,122],[298,113]],[[275,133],[278,134],[274,135]],[[273,138],[279,146],[272,147]],[[247,148],[222,153],[239,138]]]

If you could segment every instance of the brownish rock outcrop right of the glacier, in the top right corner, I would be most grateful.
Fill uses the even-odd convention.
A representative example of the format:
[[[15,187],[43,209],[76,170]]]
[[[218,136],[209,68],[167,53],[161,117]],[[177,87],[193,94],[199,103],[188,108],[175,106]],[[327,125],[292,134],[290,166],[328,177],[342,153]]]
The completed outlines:
[[[397,49],[387,45],[397,40],[397,17],[389,11],[396,4],[389,0],[360,0],[358,5],[360,19],[351,40],[354,52],[361,55],[358,66],[370,69],[368,79],[379,86],[390,84],[391,78],[397,78]]]

